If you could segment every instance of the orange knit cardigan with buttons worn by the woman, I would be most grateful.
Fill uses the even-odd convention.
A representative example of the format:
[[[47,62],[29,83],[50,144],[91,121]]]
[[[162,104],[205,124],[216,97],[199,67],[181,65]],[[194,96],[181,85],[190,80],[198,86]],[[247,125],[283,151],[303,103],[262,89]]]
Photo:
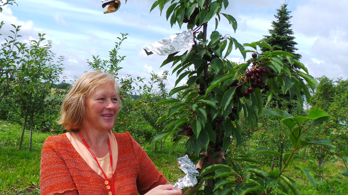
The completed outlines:
[[[128,132],[114,135],[118,144],[118,161],[112,176],[115,194],[145,194],[167,182]],[[82,159],[65,134],[50,136],[45,140],[40,167],[42,195],[108,194],[104,181]]]

